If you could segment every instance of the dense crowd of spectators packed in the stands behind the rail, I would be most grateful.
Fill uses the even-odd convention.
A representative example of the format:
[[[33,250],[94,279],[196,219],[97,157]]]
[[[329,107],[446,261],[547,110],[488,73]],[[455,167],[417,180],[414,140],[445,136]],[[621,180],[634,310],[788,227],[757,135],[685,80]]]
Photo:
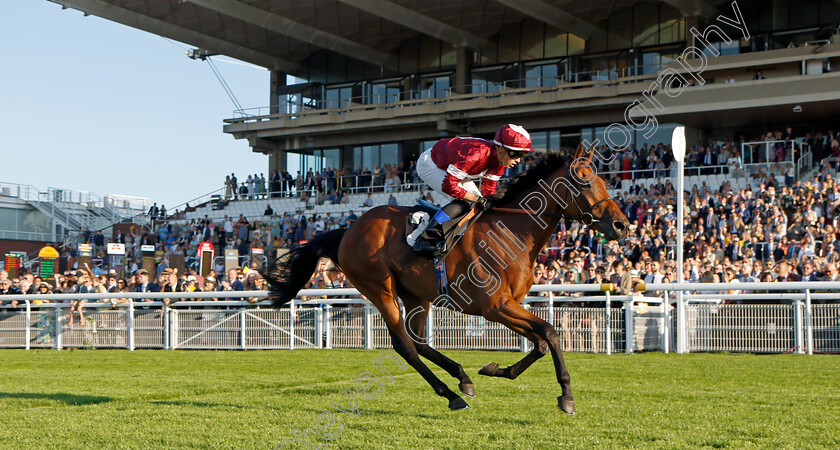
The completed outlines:
[[[780,139],[779,139],[780,138]],[[765,140],[792,140],[791,130],[770,133]],[[685,256],[684,280],[688,282],[753,282],[753,281],[840,281],[840,185],[835,182],[840,163],[828,163],[823,158],[840,156],[840,135],[829,131],[805,140],[814,152],[820,169],[811,179],[796,180],[787,172],[776,177],[772,171],[753,176],[745,188],[733,189],[729,182],[711,189],[705,184],[692,186],[685,197],[685,230],[683,251]],[[721,145],[710,142],[696,145],[686,157],[688,166],[708,167],[727,161],[729,172],[737,175],[743,164],[738,142]],[[783,151],[792,146],[783,145],[774,155],[785,160]],[[560,152],[568,153],[568,149]],[[673,162],[670,148],[664,144],[642,146],[640,149],[615,150],[603,148],[605,156],[599,169],[619,168],[620,173],[607,175],[608,184],[621,188],[616,198],[621,210],[630,221],[628,237],[621,242],[605,242],[596,232],[577,222],[561,221],[548,246],[538,257],[534,268],[534,283],[595,283],[612,282],[614,293],[634,293],[635,280],[646,283],[676,282],[675,249],[676,190],[667,176]],[[761,152],[759,152],[761,153]],[[754,155],[755,160],[763,158]],[[517,166],[516,171],[528,170],[538,164],[544,154],[537,153]],[[753,156],[750,156],[753,158]],[[771,158],[772,159],[772,158]],[[647,161],[647,165],[643,163]],[[764,161],[767,162],[767,161]],[[773,162],[772,160],[769,162]],[[357,170],[361,186],[386,185],[388,177],[414,180],[413,166],[386,165],[374,171]],[[226,182],[230,197],[268,198],[279,192],[305,192],[308,189],[333,197],[334,203],[346,203],[342,192],[345,173],[325,169],[309,171],[304,177],[291,178],[288,173],[276,172],[269,180],[249,176],[241,186],[231,174]],[[353,173],[356,175],[356,173]],[[742,175],[743,176],[743,175]],[[638,181],[642,178],[642,181]],[[343,181],[344,180],[344,181]],[[352,183],[357,178],[352,177]],[[782,181],[783,180],[783,181]],[[266,182],[269,189],[266,189]],[[643,187],[642,184],[646,182]],[[235,189],[239,186],[239,190]],[[244,186],[244,189],[243,189]],[[392,184],[393,186],[393,184]],[[355,185],[352,187],[356,187]],[[422,194],[433,201],[431,193]],[[285,195],[285,194],[284,194]],[[392,196],[393,199],[393,196]],[[371,206],[363,204],[362,206]],[[156,208],[156,205],[155,205]],[[154,209],[160,217],[160,209]],[[210,242],[217,254],[224,249],[236,249],[242,261],[247,261],[252,250],[262,249],[267,254],[291,249],[325,231],[346,228],[358,219],[349,210],[336,215],[331,213],[306,214],[304,208],[295,212],[275,212],[267,205],[264,216],[238,218],[225,216],[217,223],[205,216],[203,219],[153,221],[153,228],[133,227],[127,235],[117,233],[106,239],[101,232],[85,230],[77,243],[91,243],[94,247],[94,267],[79,268],[75,249],[69,250],[69,263],[73,270],[58,275],[55,286],[42,282],[32,274],[9,280],[0,272],[0,294],[26,292],[133,292],[138,291],[193,291],[193,290],[242,290],[261,289],[262,278],[247,264],[242,269],[225,273],[217,263],[207,277],[200,277],[194,266],[181,273],[171,267],[171,255],[184,255],[194,260],[198,246]],[[171,217],[170,217],[171,219]],[[119,242],[126,245],[126,278],[119,278],[107,266],[105,244]],[[156,268],[147,273],[140,268],[141,246],[155,246]],[[221,261],[221,258],[217,258]],[[80,270],[81,269],[81,270]],[[308,287],[349,287],[349,281],[335,268],[327,265],[313,274]],[[732,289],[729,293],[737,293]],[[657,295],[645,292],[644,295]],[[118,297],[115,304],[122,301]],[[84,302],[81,303],[82,305]],[[13,306],[18,306],[17,302]],[[81,308],[79,308],[80,310]]]

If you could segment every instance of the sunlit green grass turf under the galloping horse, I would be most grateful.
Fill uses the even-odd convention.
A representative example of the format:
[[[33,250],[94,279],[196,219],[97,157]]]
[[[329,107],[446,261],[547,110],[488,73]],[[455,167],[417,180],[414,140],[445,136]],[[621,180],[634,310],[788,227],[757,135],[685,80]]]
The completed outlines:
[[[0,447],[270,449],[310,428],[336,448],[840,448],[840,357],[827,355],[567,354],[568,416],[550,357],[511,381],[477,371],[524,354],[450,351],[476,384],[470,409],[394,370],[378,397],[354,395],[358,416],[336,412],[340,435],[318,437],[319,414],[346,406],[380,353],[3,350]]]

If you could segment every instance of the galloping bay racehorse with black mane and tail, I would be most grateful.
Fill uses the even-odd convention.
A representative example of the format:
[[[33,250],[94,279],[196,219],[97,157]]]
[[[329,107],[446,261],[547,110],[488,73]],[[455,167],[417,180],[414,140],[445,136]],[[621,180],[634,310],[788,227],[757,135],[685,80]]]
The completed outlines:
[[[537,255],[561,219],[579,220],[608,240],[623,238],[628,221],[607,193],[592,166],[592,149],[578,146],[571,160],[549,155],[545,161],[519,174],[490,199],[492,209],[468,228],[446,256],[447,279],[455,293],[450,305],[464,314],[483,316],[529,339],[534,349],[522,360],[501,369],[490,363],[479,373],[514,379],[547,351],[554,358],[562,395],[558,407],[575,413],[569,371],[561,352],[561,338],[548,322],[522,307],[533,283]],[[468,405],[420,360],[423,356],[459,380],[458,387],[475,396],[472,380],[463,367],[429,345],[425,323],[438,296],[433,263],[412,251],[405,241],[408,208],[379,206],[347,229],[323,233],[285,254],[264,271],[275,307],[292,300],[306,284],[321,257],[330,258],[353,286],[382,314],[394,349],[449,401],[452,410]],[[529,217],[530,216],[530,217]],[[407,314],[400,311],[402,299]],[[406,327],[406,320],[407,325]]]

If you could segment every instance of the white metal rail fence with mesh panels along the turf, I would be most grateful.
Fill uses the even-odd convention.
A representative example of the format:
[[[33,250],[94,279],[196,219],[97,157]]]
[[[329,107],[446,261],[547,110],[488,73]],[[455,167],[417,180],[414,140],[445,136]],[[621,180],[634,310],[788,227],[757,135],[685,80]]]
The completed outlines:
[[[800,290],[799,293],[684,294],[685,291]],[[840,352],[840,283],[651,284],[640,290],[664,297],[613,296],[611,285],[535,285],[523,304],[557,328],[564,351]],[[607,290],[601,292],[602,290]],[[585,297],[561,292],[589,292]],[[275,310],[263,291],[121,293],[127,303],[86,305],[81,326],[69,326],[68,303],[41,303],[11,295],[22,307],[0,308],[0,348],[295,349],[390,348],[379,312],[354,289],[309,289]],[[52,300],[109,299],[114,294],[55,294]],[[324,298],[324,297],[333,298]],[[344,296],[345,298],[335,298]],[[38,296],[45,298],[45,296]],[[165,306],[156,299],[188,299]],[[191,300],[190,300],[191,299]],[[144,301],[135,301],[144,300]],[[152,300],[152,301],[149,301]],[[756,301],[773,302],[755,303]],[[740,303],[730,303],[740,302]],[[40,303],[40,304],[36,304]],[[620,307],[618,305],[621,305]],[[404,311],[405,312],[405,311]],[[482,317],[432,307],[429,341],[439,349],[529,351],[529,341]]]

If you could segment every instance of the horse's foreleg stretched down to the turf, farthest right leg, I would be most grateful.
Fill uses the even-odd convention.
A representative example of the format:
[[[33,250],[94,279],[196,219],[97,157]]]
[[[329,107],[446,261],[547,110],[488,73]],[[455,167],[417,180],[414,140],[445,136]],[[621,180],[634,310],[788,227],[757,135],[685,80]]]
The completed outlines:
[[[554,358],[554,372],[557,375],[557,382],[560,383],[563,390],[563,395],[557,398],[557,406],[568,414],[574,414],[575,399],[572,395],[571,376],[566,369],[566,362],[563,360],[563,352],[560,349],[560,334],[557,333],[557,330],[516,302],[507,302],[497,308],[490,309],[484,313],[484,317],[499,322],[514,331],[517,329],[530,331],[548,344],[551,356]]]

